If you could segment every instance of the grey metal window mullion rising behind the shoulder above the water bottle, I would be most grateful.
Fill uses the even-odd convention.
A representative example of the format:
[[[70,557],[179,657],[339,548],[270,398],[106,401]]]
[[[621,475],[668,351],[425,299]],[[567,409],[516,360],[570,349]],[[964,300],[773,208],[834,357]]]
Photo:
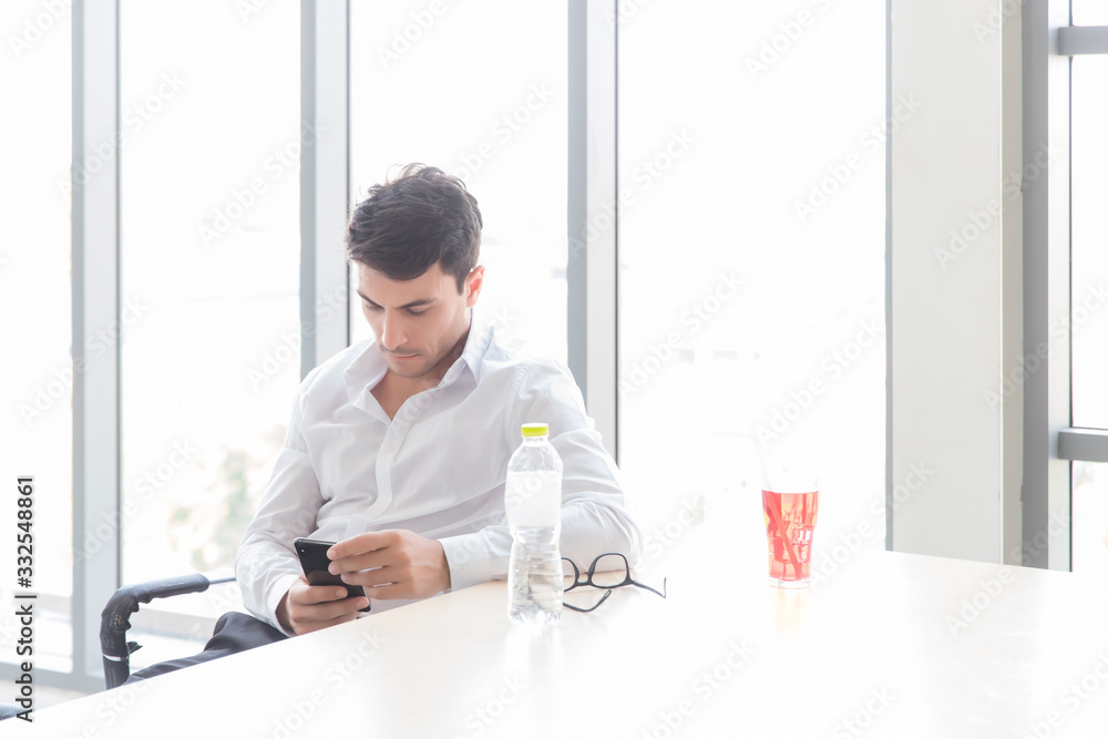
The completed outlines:
[[[618,461],[618,197],[615,0],[568,6],[570,370]]]

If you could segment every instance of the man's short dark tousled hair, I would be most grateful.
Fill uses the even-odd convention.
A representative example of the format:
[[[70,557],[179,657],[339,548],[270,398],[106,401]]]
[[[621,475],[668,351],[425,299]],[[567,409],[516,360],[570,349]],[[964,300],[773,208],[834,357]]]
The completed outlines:
[[[481,211],[458,177],[438,167],[409,164],[373,185],[347,226],[347,256],[389,279],[414,279],[439,263],[458,280],[478,264]]]

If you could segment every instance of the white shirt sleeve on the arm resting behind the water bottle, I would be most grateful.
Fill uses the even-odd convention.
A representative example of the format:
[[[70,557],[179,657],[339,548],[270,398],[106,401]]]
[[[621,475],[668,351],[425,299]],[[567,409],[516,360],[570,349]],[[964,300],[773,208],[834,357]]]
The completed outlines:
[[[620,552],[637,562],[642,540],[624,507],[619,470],[566,368],[553,360],[527,366],[507,413],[507,443],[519,442],[523,423],[547,423],[551,444],[562,459],[562,556],[582,571],[605,552]],[[507,577],[512,537],[506,525],[439,541],[452,589]]]

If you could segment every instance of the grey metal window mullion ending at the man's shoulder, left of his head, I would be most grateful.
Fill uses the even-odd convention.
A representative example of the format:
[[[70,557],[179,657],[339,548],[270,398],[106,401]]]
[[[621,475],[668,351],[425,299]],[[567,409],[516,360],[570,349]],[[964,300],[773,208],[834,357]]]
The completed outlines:
[[[300,377],[350,343],[347,1],[300,6]]]

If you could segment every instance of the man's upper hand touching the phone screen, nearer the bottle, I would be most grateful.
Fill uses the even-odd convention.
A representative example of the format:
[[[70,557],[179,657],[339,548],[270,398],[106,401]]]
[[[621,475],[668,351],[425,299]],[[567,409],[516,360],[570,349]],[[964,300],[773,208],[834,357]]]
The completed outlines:
[[[442,544],[400,528],[359,534],[327,550],[330,571],[371,598],[425,598],[450,587]]]

